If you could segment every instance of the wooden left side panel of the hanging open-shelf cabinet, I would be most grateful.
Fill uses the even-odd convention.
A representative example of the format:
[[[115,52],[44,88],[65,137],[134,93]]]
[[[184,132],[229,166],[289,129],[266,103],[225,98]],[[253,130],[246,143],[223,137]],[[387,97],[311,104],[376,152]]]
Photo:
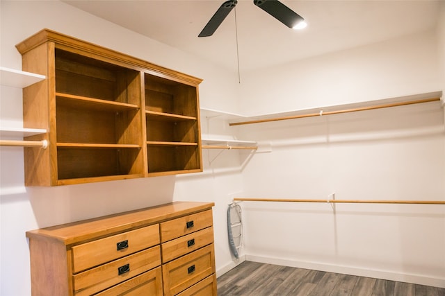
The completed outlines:
[[[53,46],[54,47],[54,46]],[[35,49],[22,55],[22,69],[32,73],[38,73],[46,76],[45,80],[30,85],[23,89],[23,124],[25,128],[44,128],[47,134],[39,134],[33,137],[27,137],[27,140],[43,140],[51,142],[48,132],[51,131],[50,104],[48,100],[51,80],[54,83],[54,73],[51,75],[51,46],[41,44]],[[25,184],[32,185],[50,185],[49,175],[51,174],[50,155],[51,146],[47,149],[42,148],[24,148],[25,158]]]

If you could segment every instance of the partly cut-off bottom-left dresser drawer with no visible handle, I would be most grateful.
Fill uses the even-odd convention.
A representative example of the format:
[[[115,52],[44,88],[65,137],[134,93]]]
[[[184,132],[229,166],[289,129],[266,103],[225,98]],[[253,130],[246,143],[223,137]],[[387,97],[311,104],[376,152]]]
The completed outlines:
[[[113,286],[108,290],[104,290],[95,296],[161,296],[162,295],[162,269],[161,267],[154,268],[154,270],[147,271],[142,275],[133,277],[122,284]]]

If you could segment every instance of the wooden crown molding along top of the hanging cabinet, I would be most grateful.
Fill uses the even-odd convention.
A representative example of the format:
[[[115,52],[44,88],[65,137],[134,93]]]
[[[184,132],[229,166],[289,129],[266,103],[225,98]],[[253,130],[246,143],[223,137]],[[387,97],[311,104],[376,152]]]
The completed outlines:
[[[148,70],[147,73],[160,77],[168,77],[170,79],[174,78],[178,81],[186,81],[191,85],[199,85],[200,82],[202,82],[201,78],[196,78],[185,73],[173,71],[165,67],[152,64],[151,62],[134,58],[131,55],[113,51],[112,49],[106,49],[103,46],[79,40],[75,37],[64,35],[62,33],[58,33],[47,28],[42,29],[38,33],[35,33],[31,37],[17,44],[15,47],[17,48],[19,53],[23,55],[27,51],[30,51],[31,49],[34,49],[35,47],[40,46],[45,42],[54,42],[55,44],[60,44],[61,46],[67,46],[72,49],[85,51],[87,53],[99,55],[104,58],[123,62],[124,64],[131,65],[132,67],[146,69]]]

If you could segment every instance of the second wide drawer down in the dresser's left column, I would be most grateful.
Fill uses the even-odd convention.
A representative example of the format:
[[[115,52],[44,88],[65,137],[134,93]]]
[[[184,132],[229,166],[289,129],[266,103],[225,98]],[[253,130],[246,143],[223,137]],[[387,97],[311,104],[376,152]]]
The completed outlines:
[[[159,245],[73,276],[76,296],[92,295],[161,264]]]

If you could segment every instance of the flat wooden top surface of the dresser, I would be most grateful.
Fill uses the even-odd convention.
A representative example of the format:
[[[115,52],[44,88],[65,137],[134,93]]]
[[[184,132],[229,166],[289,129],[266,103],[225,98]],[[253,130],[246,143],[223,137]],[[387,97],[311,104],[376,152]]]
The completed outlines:
[[[54,239],[65,245],[73,245],[204,211],[211,209],[214,205],[214,202],[171,202],[120,214],[35,229],[26,232],[26,236],[36,239]]]

